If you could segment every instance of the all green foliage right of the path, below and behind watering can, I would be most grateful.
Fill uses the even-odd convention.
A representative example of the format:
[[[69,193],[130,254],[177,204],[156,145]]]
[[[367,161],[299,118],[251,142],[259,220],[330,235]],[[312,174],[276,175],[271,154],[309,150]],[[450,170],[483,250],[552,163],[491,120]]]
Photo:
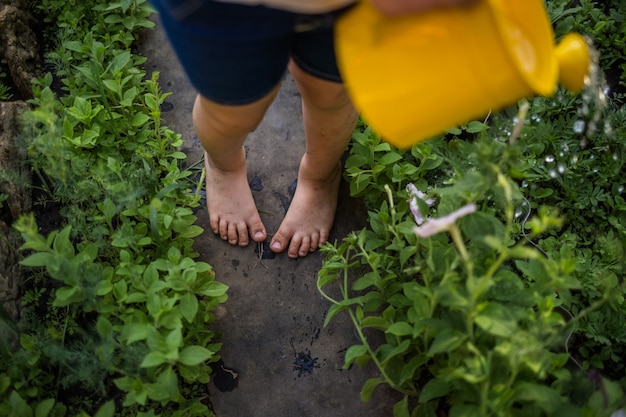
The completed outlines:
[[[623,65],[623,2],[548,8],[558,36],[592,38],[596,69]],[[592,81],[408,150],[359,126],[346,178],[369,228],[324,248],[318,288],[327,322],[348,314],[361,339],[345,366],[380,371],[364,401],[387,384],[404,395],[396,417],[624,407],[626,113],[619,83]],[[468,203],[475,213],[416,234],[415,210],[441,224]]]

